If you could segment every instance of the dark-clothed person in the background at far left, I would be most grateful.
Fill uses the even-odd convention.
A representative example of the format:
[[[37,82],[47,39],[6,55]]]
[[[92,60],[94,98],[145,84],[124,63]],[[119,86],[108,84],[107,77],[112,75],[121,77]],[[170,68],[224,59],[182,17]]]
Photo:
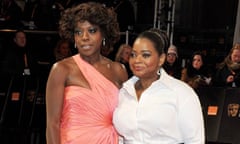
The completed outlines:
[[[30,48],[24,30],[17,30],[4,58],[4,70],[7,73],[19,76],[35,75],[37,73],[37,61],[34,59]]]

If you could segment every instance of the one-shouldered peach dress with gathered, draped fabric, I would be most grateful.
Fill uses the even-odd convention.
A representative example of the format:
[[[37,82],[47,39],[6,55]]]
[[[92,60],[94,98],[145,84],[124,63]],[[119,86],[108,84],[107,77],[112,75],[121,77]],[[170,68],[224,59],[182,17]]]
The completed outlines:
[[[79,55],[73,58],[90,89],[79,86],[65,88],[61,143],[117,144],[112,115],[118,101],[118,88]]]

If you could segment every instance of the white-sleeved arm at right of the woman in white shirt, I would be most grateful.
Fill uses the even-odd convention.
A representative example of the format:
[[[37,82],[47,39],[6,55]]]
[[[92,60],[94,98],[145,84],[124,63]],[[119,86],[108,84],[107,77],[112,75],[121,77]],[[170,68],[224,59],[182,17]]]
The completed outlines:
[[[183,93],[187,95],[179,106],[179,127],[184,144],[205,144],[205,128],[202,106],[193,89]]]

